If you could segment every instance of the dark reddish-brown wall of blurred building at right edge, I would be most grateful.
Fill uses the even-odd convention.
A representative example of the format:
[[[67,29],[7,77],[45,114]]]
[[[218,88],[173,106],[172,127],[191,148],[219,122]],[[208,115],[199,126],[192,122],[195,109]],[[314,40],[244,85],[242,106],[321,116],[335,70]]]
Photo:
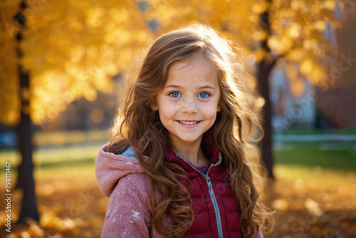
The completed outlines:
[[[315,103],[330,125],[356,128],[356,6],[345,6],[340,21],[332,33],[334,57],[326,62],[330,87],[318,88]]]

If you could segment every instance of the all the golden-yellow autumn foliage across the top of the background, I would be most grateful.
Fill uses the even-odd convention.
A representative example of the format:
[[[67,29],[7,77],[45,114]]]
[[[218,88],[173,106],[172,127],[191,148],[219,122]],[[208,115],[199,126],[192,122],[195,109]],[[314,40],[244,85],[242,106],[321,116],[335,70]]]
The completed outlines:
[[[110,77],[140,56],[149,39],[192,22],[220,31],[252,64],[284,58],[297,68],[291,80],[304,76],[313,83],[325,81],[319,59],[328,53],[330,43],[324,31],[328,24],[337,26],[334,9],[345,4],[332,0],[25,2],[24,29],[14,21],[19,0],[0,3],[0,43],[6,46],[0,49],[0,123],[4,124],[19,121],[19,63],[30,76],[31,119],[40,124],[56,118],[73,100],[94,100],[96,90],[112,91]],[[260,22],[266,10],[269,31]],[[152,21],[157,29],[150,29]],[[19,31],[21,61],[14,38]],[[261,41],[271,52],[261,48]],[[298,85],[295,91],[303,88],[300,83],[292,85]]]

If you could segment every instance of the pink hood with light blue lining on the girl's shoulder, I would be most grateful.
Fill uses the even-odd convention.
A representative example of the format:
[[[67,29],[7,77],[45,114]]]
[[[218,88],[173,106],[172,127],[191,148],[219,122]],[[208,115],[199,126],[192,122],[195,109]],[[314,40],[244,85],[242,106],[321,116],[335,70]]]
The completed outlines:
[[[95,160],[95,175],[103,195],[110,197],[120,178],[134,173],[144,171],[131,147],[121,155],[108,152],[108,145],[100,148]]]

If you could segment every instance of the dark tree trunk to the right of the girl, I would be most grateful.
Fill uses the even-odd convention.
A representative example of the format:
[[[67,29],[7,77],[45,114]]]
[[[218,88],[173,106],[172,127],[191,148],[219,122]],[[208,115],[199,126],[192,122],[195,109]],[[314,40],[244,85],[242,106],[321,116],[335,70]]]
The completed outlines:
[[[271,0],[270,0],[271,2]],[[261,14],[260,18],[260,26],[264,29],[268,36],[270,35],[271,25],[269,21],[268,10]],[[268,47],[267,38],[265,41],[261,42],[261,47],[266,51],[270,52],[271,49]],[[274,180],[273,175],[273,154],[272,154],[272,112],[271,112],[271,100],[270,100],[270,88],[268,78],[271,73],[271,69],[276,63],[276,60],[273,61],[270,58],[265,57],[258,64],[258,88],[259,93],[265,100],[265,104],[263,105],[263,129],[264,129],[264,137],[261,140],[261,150],[262,150],[262,160],[266,165],[266,169],[268,172],[268,178]]]

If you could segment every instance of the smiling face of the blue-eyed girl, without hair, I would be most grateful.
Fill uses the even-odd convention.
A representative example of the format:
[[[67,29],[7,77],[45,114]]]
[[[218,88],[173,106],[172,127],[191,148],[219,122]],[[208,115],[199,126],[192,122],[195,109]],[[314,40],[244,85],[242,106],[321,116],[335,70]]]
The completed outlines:
[[[153,107],[169,132],[172,145],[201,143],[220,111],[216,68],[201,57],[174,63]]]

